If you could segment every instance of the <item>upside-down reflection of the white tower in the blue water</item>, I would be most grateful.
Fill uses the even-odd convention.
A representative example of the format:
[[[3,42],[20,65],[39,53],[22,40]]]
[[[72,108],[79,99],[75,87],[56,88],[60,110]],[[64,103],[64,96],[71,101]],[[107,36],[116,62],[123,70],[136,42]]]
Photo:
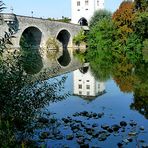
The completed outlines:
[[[105,83],[96,81],[90,69],[85,67],[73,72],[73,89],[74,95],[91,99],[105,93]]]

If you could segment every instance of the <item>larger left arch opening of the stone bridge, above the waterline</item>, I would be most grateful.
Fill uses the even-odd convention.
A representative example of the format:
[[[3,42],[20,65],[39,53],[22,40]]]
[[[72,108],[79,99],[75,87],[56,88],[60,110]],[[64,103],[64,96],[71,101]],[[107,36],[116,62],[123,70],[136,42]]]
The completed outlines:
[[[42,40],[42,32],[34,26],[29,26],[21,34],[20,45],[40,47]]]

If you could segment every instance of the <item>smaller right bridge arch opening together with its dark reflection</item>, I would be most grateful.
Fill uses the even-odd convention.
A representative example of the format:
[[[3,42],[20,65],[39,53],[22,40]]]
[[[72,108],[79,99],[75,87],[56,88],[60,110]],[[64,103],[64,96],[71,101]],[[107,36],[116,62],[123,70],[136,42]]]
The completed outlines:
[[[57,40],[61,42],[62,47],[63,47],[63,54],[62,56],[58,59],[58,62],[61,64],[61,66],[67,66],[70,61],[70,53],[68,51],[68,44],[70,42],[70,33],[67,30],[61,30],[58,35],[57,35]]]

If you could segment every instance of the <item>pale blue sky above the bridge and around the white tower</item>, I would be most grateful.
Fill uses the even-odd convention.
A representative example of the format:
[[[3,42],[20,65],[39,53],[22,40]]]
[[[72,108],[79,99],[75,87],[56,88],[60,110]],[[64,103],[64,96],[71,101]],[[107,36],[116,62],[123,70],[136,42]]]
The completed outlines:
[[[105,9],[114,12],[123,0],[105,0]],[[71,0],[3,0],[7,9],[17,15],[42,18],[71,17]]]

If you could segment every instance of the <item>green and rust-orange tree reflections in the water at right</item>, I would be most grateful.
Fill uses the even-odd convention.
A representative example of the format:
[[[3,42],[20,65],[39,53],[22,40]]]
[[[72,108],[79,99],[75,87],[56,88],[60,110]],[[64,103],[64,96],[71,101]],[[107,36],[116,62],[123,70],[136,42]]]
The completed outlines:
[[[112,76],[122,92],[133,92],[131,109],[148,118],[148,63],[141,61],[142,64],[133,65],[126,57],[112,63],[108,55],[106,58],[103,54],[99,56],[90,62],[95,77],[107,80]]]

